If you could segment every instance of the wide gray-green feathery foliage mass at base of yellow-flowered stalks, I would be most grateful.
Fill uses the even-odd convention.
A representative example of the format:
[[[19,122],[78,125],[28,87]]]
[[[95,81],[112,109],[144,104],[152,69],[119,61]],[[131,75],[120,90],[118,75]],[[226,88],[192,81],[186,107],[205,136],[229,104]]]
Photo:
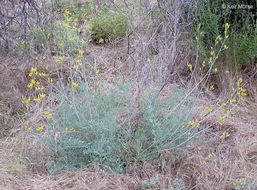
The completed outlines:
[[[60,104],[50,123],[52,138],[47,139],[49,172],[89,165],[124,172],[142,160],[160,163],[163,151],[175,156],[178,148],[190,144],[192,135],[181,126],[192,117],[192,103],[172,111],[183,97],[182,91],[154,103],[152,95],[145,96],[141,109],[135,111],[129,106],[131,87],[92,93],[81,82],[74,90],[70,85],[58,90],[54,98]],[[135,114],[139,116],[133,117]]]

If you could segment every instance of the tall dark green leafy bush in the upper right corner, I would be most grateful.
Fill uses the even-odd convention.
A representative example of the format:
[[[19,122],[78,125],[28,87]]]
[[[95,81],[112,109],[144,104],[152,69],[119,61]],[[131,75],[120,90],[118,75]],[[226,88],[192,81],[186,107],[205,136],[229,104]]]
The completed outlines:
[[[252,5],[252,1],[243,4]],[[231,8],[231,6],[235,8]],[[217,36],[224,34],[225,23],[230,24],[228,51],[222,53],[220,60],[234,67],[242,68],[256,61],[257,25],[253,9],[242,9],[238,1],[199,1],[197,22],[201,24],[200,36],[201,57],[206,59],[211,47],[215,46]],[[254,5],[253,5],[254,6]],[[244,52],[244,53],[242,53]]]

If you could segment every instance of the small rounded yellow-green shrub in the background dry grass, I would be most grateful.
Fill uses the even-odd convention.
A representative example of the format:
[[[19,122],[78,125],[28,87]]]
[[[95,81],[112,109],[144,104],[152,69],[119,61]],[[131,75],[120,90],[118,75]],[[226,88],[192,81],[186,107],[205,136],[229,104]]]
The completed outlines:
[[[91,39],[105,43],[124,37],[126,31],[127,18],[121,11],[102,12],[92,20]]]

